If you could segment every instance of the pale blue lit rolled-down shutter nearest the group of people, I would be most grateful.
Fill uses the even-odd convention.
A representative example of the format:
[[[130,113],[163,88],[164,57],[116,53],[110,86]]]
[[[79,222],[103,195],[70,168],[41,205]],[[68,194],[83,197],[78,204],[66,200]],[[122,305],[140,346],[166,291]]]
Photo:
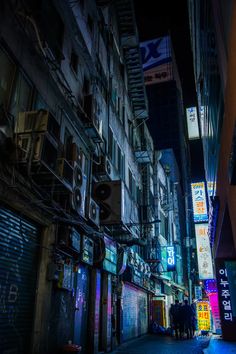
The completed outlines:
[[[123,286],[123,341],[148,331],[147,293],[125,283]]]

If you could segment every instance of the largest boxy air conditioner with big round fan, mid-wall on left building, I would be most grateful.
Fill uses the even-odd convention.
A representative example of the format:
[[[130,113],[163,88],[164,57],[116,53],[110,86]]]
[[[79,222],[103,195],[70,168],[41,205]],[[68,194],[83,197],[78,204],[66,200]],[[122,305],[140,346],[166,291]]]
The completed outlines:
[[[101,224],[124,223],[124,184],[121,180],[95,183],[93,198],[100,207]]]

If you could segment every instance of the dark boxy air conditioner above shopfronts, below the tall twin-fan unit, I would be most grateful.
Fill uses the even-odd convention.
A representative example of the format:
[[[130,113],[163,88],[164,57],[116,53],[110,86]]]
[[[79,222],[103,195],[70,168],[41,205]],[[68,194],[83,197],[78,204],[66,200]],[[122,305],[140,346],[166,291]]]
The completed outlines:
[[[58,232],[59,246],[69,248],[74,252],[81,251],[81,236],[73,227],[60,227]]]

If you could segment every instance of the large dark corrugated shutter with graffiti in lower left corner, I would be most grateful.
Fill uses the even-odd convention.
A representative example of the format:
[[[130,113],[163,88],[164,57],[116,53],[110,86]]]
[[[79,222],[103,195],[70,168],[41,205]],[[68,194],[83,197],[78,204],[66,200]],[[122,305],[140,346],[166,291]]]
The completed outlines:
[[[37,276],[38,229],[0,208],[0,353],[29,353]]]

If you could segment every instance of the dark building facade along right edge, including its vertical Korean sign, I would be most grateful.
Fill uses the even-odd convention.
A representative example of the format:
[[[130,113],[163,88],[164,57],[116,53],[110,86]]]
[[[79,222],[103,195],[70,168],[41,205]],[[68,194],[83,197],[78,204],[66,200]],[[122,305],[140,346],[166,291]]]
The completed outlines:
[[[235,3],[188,4],[221,327],[235,340]]]

